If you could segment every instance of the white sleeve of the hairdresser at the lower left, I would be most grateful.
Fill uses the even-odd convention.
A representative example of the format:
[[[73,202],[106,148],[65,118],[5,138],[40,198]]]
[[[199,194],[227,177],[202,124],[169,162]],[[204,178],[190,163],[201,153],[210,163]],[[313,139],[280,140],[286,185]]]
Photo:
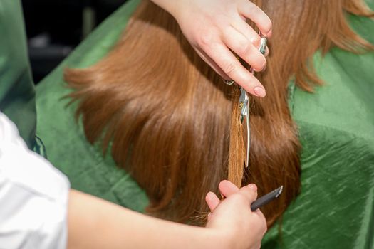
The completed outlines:
[[[0,112],[0,249],[64,249],[70,185]]]

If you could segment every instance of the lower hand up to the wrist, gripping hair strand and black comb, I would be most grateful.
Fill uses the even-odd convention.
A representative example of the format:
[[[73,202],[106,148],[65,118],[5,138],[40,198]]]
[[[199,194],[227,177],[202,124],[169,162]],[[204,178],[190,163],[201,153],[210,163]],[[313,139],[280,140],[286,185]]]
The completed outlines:
[[[257,198],[256,185],[238,189],[230,181],[221,181],[219,191],[226,197],[223,201],[212,192],[206,196],[212,211],[207,227],[217,229],[222,238],[229,237],[230,248],[260,248],[266,220],[261,211],[251,211],[251,203]]]

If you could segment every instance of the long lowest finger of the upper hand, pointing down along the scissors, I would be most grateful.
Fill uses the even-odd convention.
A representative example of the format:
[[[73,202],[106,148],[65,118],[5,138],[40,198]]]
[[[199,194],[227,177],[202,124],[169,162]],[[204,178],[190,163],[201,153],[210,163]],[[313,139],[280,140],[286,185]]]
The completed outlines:
[[[206,47],[205,51],[230,79],[241,85],[247,92],[259,97],[266,95],[266,91],[259,80],[241,65],[223,43],[214,43],[212,46]]]

